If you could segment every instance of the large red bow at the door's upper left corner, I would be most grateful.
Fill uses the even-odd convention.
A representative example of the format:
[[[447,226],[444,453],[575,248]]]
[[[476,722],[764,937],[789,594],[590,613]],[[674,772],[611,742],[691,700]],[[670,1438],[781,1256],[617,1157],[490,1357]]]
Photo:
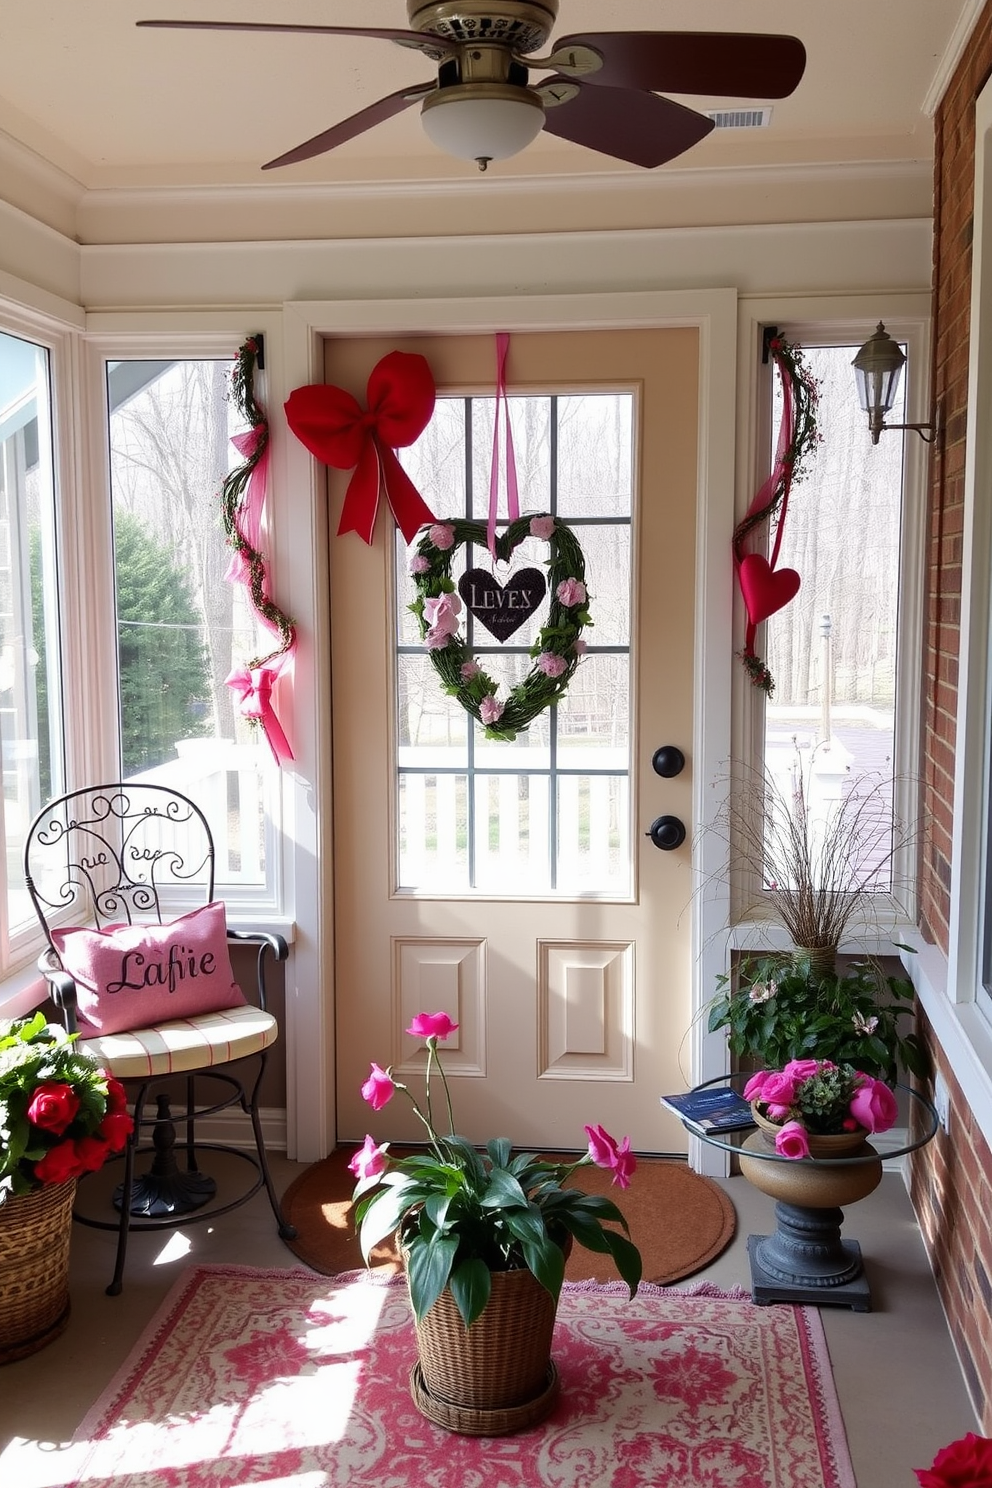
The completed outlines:
[[[297,387],[286,403],[290,429],[312,455],[335,470],[352,470],[338,536],[357,533],[372,542],[379,493],[408,543],[434,521],[394,449],[412,445],[434,412],[434,378],[425,357],[390,351],[372,368],[369,411],[342,387]]]

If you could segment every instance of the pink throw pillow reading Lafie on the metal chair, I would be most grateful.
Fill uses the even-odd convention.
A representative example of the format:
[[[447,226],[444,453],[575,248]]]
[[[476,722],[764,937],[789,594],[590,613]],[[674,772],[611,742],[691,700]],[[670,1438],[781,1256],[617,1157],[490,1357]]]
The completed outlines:
[[[76,982],[80,1021],[100,1033],[147,1028],[247,1001],[231,970],[222,903],[164,926],[54,930],[52,940]]]

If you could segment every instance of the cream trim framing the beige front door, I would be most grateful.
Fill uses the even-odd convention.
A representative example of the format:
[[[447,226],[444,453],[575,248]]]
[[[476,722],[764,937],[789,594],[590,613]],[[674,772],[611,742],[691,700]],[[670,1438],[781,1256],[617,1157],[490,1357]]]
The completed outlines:
[[[323,342],[372,333],[486,333],[497,330],[599,330],[696,326],[699,329],[699,485],[696,525],[695,738],[684,741],[693,771],[693,882],[712,885],[693,896],[693,1024],[687,1079],[726,1070],[726,1040],[705,1033],[700,1010],[712,994],[714,945],[727,923],[720,882],[708,870],[718,850],[714,833],[699,833],[712,812],[711,783],[730,750],[732,582],[738,293],[647,290],[617,295],[479,296],[471,299],[297,301],[284,305],[284,387],[323,379]],[[323,467],[287,437],[280,472],[292,494],[292,528],[308,540],[309,595],[294,604],[314,616],[314,635],[327,634],[327,521]],[[289,503],[287,503],[289,506]],[[300,574],[300,582],[303,582]],[[314,637],[300,644],[312,646]],[[312,1162],[335,1144],[333,905],[330,674],[327,659],[311,670],[312,696],[294,699],[297,939],[294,988],[287,988],[287,1129],[290,1156]],[[683,743],[683,741],[669,741]],[[314,870],[315,865],[315,870]],[[292,992],[292,995],[290,995]],[[689,1030],[672,1031],[683,1037]],[[364,1071],[355,1071],[355,1077]],[[662,1092],[659,1091],[659,1095]],[[703,1149],[700,1167],[720,1153]],[[721,1170],[720,1170],[721,1171]]]

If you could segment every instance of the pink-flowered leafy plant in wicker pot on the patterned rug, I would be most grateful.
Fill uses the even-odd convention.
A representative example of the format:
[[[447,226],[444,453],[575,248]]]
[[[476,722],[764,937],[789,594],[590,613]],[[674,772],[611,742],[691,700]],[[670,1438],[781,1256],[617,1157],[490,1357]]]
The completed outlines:
[[[373,1110],[397,1091],[406,1095],[425,1149],[394,1158],[390,1143],[367,1135],[351,1170],[366,1262],[381,1240],[399,1232],[416,1321],[416,1403],[440,1424],[483,1434],[492,1412],[537,1406],[546,1414],[555,1402],[550,1341],[573,1241],[613,1256],[631,1296],[637,1292],[641,1256],[623,1214],[605,1196],[568,1181],[596,1164],[623,1189],[637,1162],[628,1138],[617,1143],[602,1126],[586,1126],[589,1146],[574,1162],[515,1153],[506,1137],[482,1150],[458,1137],[437,1049],[457,1027],[439,1012],[418,1013],[406,1030],[427,1046],[422,1107],[391,1068],[373,1064],[361,1086]],[[445,1135],[434,1120],[434,1073],[445,1097]],[[516,1417],[510,1428],[540,1414]]]

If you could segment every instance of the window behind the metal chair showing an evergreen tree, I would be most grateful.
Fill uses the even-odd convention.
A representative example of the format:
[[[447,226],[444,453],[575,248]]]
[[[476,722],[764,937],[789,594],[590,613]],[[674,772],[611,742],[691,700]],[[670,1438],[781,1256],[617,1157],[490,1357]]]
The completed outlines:
[[[219,493],[241,460],[231,362],[109,360],[122,778],[170,784],[207,812],[217,891],[265,896],[277,768],[226,677],[272,649],[241,583]]]

